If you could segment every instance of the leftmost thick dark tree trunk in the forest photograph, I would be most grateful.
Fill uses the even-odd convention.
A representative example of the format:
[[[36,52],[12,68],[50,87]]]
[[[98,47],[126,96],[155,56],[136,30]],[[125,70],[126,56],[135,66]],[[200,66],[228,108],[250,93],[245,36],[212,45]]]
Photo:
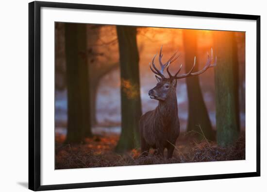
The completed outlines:
[[[65,24],[65,46],[68,107],[65,143],[80,143],[92,136],[85,24]]]

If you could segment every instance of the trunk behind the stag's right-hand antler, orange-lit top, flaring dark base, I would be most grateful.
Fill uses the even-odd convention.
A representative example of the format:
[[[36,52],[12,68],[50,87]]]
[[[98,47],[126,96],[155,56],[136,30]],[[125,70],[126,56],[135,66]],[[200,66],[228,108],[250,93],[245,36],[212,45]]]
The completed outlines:
[[[184,52],[185,52],[185,70],[189,71],[194,63],[194,57],[197,55],[197,34],[194,30],[186,30],[183,33]],[[198,69],[198,61],[196,61],[195,69]],[[187,131],[197,131],[208,140],[215,140],[212,125],[209,119],[208,111],[202,96],[199,76],[185,78],[187,95],[188,95],[188,121]],[[198,126],[200,125],[200,126]],[[200,135],[199,135],[200,136]],[[200,136],[200,139],[203,139]]]

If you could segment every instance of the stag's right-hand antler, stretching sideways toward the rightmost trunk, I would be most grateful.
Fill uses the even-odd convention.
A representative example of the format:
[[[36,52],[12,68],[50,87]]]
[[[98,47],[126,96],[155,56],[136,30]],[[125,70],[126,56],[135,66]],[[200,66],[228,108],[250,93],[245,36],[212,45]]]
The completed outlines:
[[[202,70],[199,70],[197,72],[192,72],[194,70],[195,66],[196,66],[196,56],[195,56],[193,67],[191,68],[191,70],[188,73],[185,73],[183,75],[178,75],[178,73],[180,72],[180,70],[182,68],[182,65],[181,65],[180,69],[177,71],[177,73],[174,76],[171,76],[170,72],[168,71],[169,64],[167,66],[167,72],[168,72],[170,78],[173,77],[175,79],[182,79],[182,78],[185,78],[185,77],[200,75],[201,73],[205,72],[208,68],[216,66],[216,64],[217,64],[217,56],[215,57],[215,61],[214,61],[213,64],[212,64],[212,60],[213,60],[213,50],[211,48],[211,56],[208,53],[208,59],[207,59],[206,65],[204,66],[204,68]]]

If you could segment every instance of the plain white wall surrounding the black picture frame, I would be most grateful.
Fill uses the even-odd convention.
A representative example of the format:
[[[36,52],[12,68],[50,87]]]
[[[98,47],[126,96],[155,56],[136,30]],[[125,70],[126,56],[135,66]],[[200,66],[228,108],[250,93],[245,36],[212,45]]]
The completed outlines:
[[[262,109],[267,108],[266,62],[267,12],[264,0],[57,0],[103,5],[177,9],[236,14],[261,15]],[[28,0],[6,0],[0,6],[0,189],[4,192],[26,191],[28,182]],[[266,190],[267,132],[266,112],[262,110],[262,176],[165,184],[94,188],[92,192],[111,191],[197,191],[261,192]],[[265,150],[265,151],[264,151]],[[67,190],[63,190],[66,191]],[[62,191],[62,192],[63,192]],[[88,189],[68,190],[88,191]]]

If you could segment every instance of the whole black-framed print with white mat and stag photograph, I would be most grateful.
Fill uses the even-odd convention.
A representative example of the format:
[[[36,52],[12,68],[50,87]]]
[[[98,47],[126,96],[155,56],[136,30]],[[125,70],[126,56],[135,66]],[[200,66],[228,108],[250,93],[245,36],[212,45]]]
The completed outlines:
[[[260,176],[260,16],[29,3],[29,189]]]

